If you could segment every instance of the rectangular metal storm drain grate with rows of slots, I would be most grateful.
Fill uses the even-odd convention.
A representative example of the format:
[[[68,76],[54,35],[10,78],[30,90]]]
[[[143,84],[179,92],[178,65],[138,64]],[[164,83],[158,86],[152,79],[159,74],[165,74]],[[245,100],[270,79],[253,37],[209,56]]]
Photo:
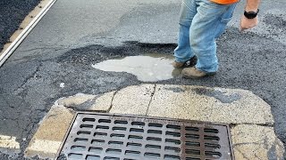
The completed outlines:
[[[234,159],[228,125],[145,116],[78,113],[64,159]]]

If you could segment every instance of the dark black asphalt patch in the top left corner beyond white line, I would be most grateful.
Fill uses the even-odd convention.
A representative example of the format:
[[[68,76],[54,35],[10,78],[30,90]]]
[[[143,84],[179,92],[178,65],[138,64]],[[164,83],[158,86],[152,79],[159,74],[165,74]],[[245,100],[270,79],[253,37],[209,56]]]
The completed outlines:
[[[13,32],[19,28],[21,21],[38,3],[39,0],[0,1],[0,51]]]

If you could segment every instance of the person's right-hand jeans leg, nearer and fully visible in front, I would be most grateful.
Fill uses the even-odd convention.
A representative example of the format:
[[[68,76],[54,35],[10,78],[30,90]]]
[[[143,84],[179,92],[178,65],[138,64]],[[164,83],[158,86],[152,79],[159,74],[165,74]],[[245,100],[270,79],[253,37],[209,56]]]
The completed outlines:
[[[214,73],[218,69],[215,38],[223,33],[236,4],[215,4],[209,0],[197,0],[197,4],[198,13],[189,29],[190,46],[198,57],[196,68]]]

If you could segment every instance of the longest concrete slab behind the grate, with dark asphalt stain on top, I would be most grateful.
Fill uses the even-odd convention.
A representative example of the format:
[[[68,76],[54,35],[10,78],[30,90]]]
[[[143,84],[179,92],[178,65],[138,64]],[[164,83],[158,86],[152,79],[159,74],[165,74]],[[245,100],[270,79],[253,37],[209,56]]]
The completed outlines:
[[[200,86],[157,84],[147,116],[225,124],[273,124],[270,106],[252,92]]]

